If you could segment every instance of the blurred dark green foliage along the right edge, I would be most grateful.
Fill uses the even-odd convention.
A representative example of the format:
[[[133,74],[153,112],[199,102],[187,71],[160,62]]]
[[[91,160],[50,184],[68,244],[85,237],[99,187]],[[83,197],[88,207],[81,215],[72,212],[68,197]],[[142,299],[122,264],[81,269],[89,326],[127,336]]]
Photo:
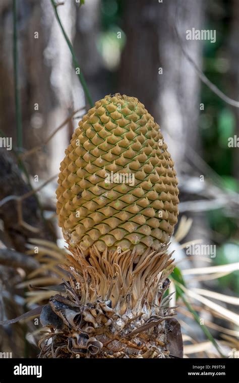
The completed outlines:
[[[210,7],[215,8],[210,13]],[[216,42],[206,41],[203,49],[203,71],[205,75],[225,94],[230,94],[231,84],[228,79],[230,62],[227,45],[230,33],[230,15],[232,3],[225,0],[211,2],[209,7],[210,24],[205,29],[216,29]],[[221,177],[222,187],[233,192],[239,190],[238,180],[233,174],[235,150],[228,147],[228,138],[236,135],[235,108],[227,105],[211,92],[204,84],[201,86],[201,102],[204,110],[200,116],[200,134],[204,160]],[[217,256],[216,265],[238,262],[239,241],[237,220],[228,217],[226,209],[207,213],[210,228],[215,233]],[[232,243],[233,241],[233,243]],[[239,273],[234,272],[220,278],[221,289],[227,287],[233,291],[238,288]]]

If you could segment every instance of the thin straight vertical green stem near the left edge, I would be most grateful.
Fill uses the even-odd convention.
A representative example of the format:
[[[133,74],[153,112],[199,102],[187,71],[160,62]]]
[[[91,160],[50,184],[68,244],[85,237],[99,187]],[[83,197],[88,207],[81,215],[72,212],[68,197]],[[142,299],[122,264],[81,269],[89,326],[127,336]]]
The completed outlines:
[[[13,62],[14,62],[14,92],[15,110],[17,127],[17,146],[18,150],[23,147],[22,140],[22,111],[19,96],[19,76],[18,76],[18,32],[17,32],[17,0],[13,0]]]

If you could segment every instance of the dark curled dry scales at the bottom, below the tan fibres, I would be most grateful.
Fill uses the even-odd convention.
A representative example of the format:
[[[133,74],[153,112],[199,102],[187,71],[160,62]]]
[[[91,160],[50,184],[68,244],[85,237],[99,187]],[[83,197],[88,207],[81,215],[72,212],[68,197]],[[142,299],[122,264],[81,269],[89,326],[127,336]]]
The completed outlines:
[[[72,303],[56,295],[50,300],[52,312],[42,313],[42,317],[50,314],[56,327],[40,340],[40,358],[182,357],[181,333],[178,349],[170,352],[170,315],[152,315],[145,321],[143,314],[134,317],[130,312],[118,317],[110,302]]]

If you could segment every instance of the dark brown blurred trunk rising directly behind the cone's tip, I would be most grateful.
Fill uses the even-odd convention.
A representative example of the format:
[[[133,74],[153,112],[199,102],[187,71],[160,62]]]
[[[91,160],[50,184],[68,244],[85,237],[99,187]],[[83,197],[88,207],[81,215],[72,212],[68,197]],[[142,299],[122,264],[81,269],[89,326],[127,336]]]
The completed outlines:
[[[159,7],[154,0],[123,1],[126,46],[122,54],[118,88],[137,97],[151,114],[157,98],[159,67]]]

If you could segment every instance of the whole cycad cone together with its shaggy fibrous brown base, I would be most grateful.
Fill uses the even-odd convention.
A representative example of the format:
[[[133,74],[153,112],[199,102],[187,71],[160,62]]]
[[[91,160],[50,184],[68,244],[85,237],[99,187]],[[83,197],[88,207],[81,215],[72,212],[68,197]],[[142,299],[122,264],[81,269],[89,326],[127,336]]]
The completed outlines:
[[[158,124],[137,98],[105,96],[79,122],[60,170],[71,278],[68,303],[50,300],[62,335],[41,343],[43,355],[170,357],[172,310],[162,296],[178,189]]]

